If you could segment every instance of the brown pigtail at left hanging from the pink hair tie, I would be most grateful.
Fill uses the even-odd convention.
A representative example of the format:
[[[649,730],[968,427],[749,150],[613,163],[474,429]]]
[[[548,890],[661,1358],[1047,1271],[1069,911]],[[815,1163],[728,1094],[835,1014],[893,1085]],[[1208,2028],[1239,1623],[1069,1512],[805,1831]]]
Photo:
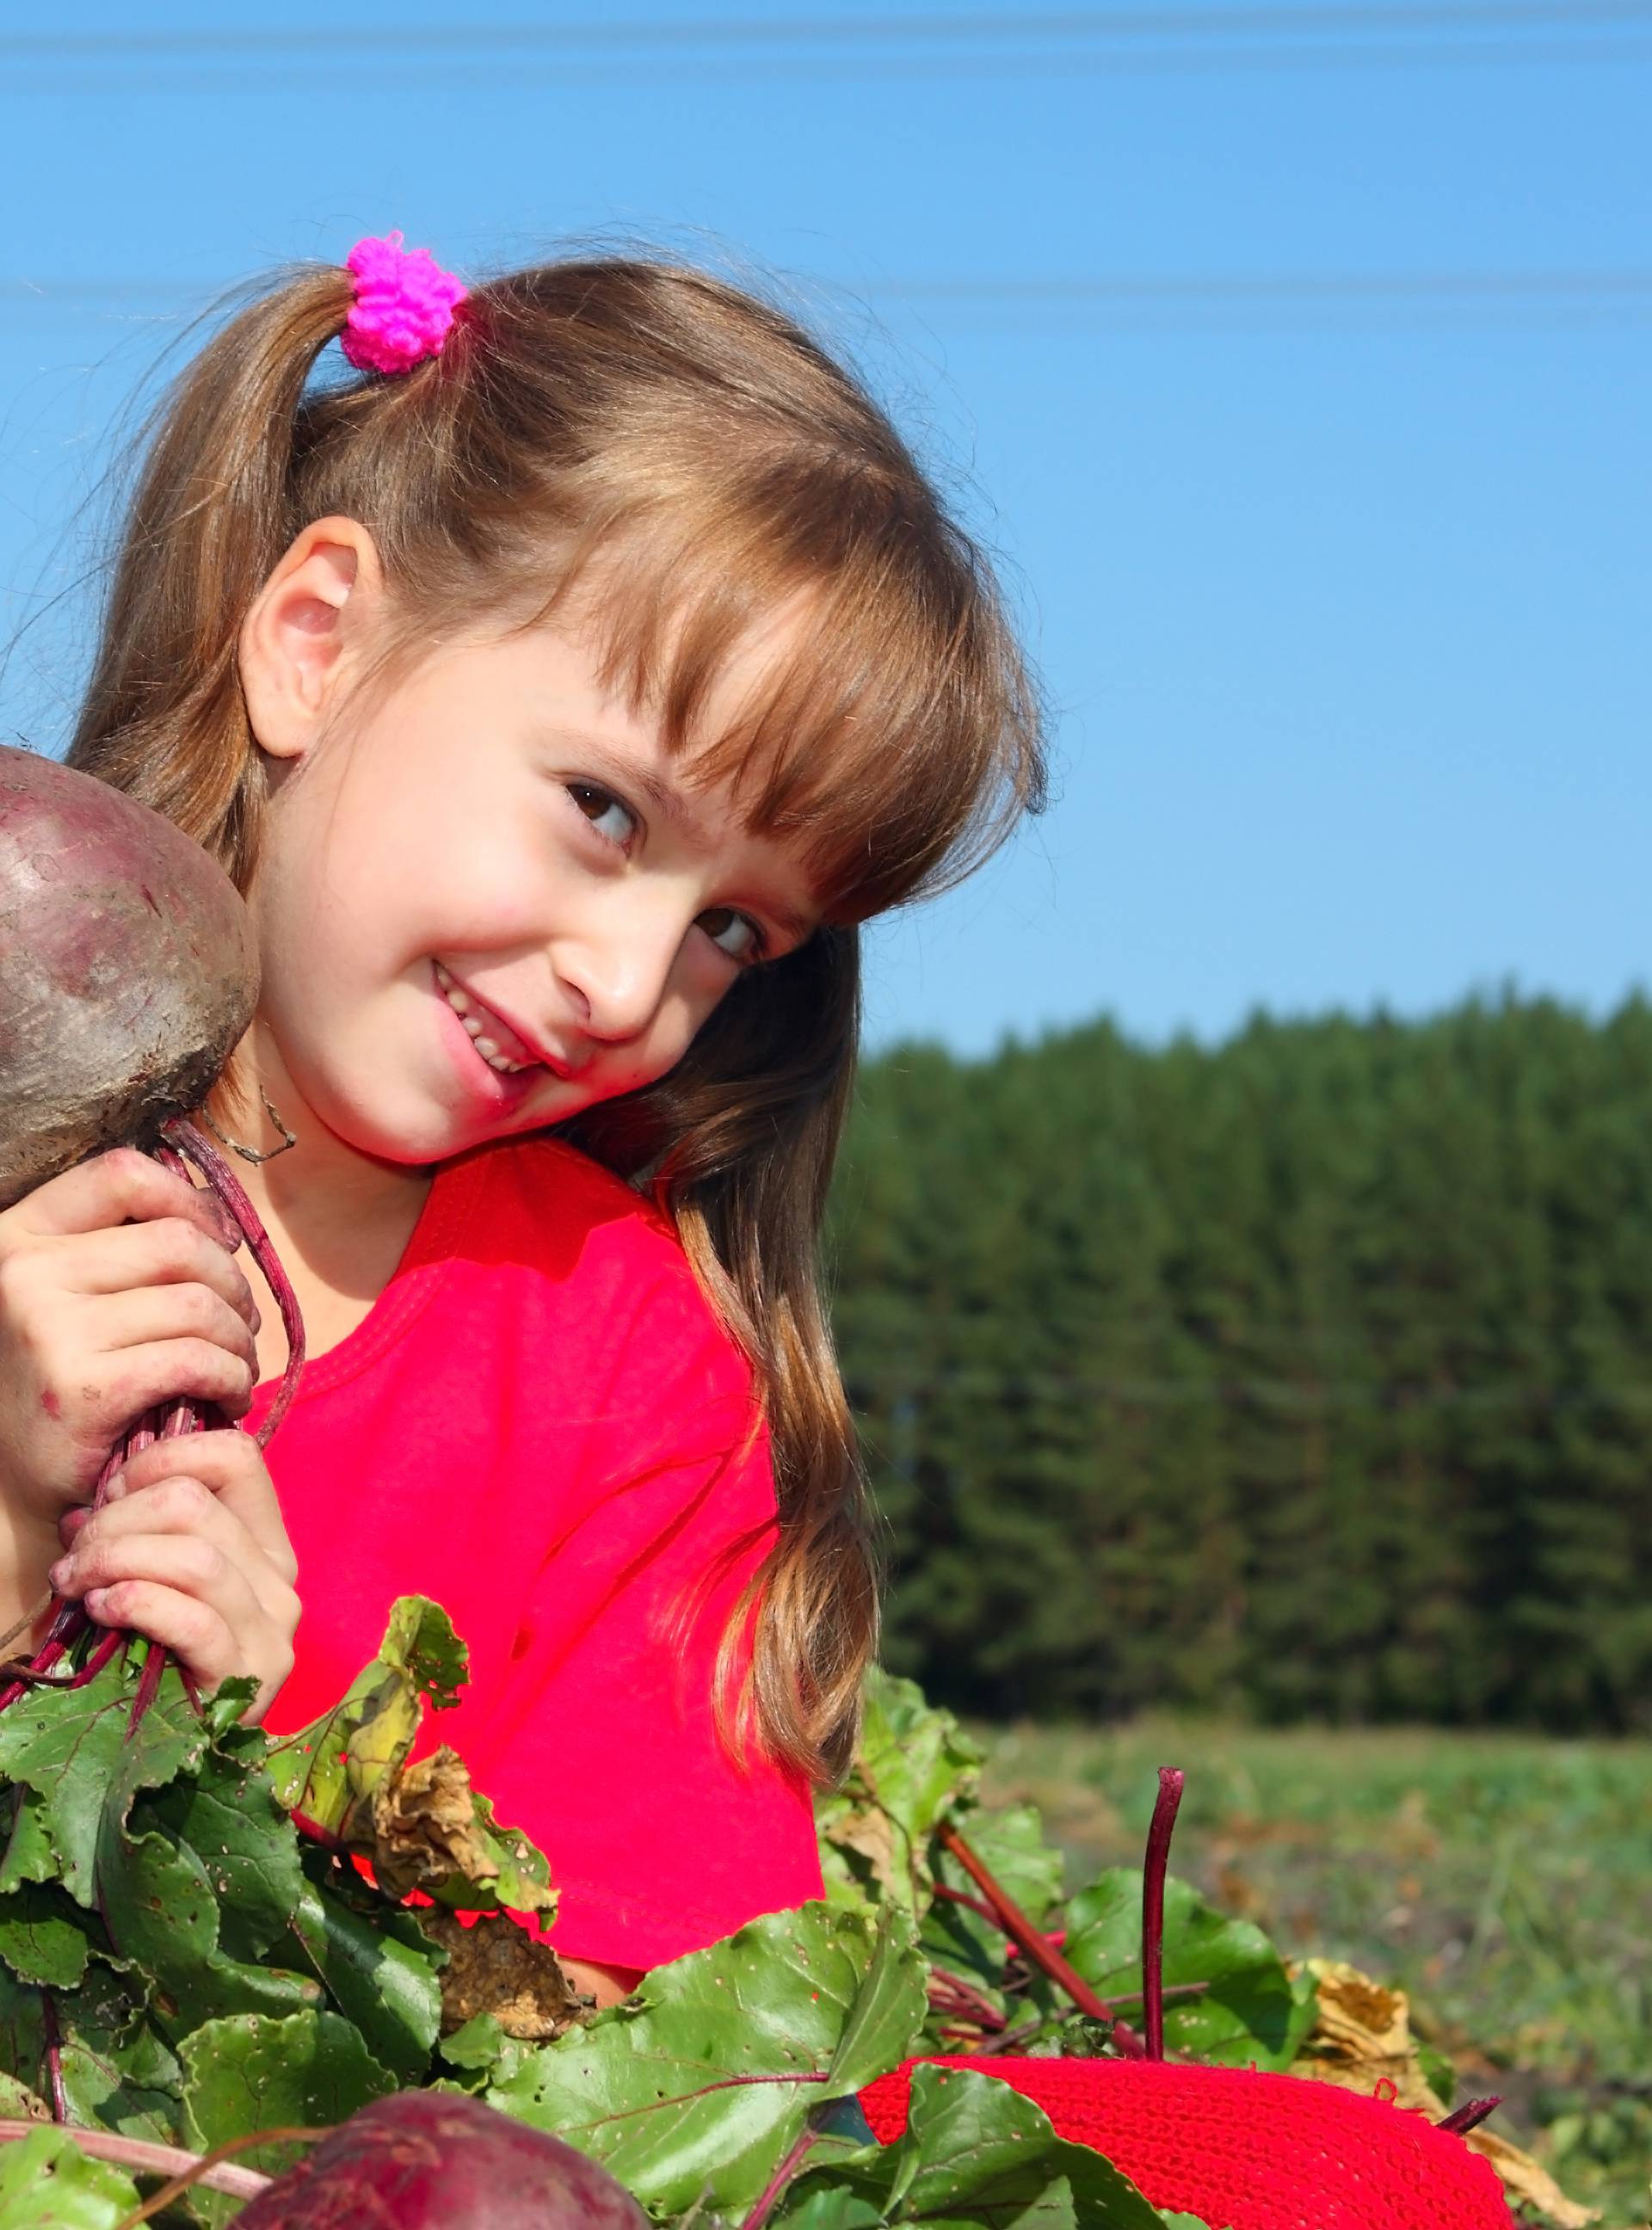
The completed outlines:
[[[67,752],[71,767],[176,821],[243,890],[263,767],[236,647],[297,533],[294,419],[348,310],[343,268],[305,272],[232,317],[163,397]]]

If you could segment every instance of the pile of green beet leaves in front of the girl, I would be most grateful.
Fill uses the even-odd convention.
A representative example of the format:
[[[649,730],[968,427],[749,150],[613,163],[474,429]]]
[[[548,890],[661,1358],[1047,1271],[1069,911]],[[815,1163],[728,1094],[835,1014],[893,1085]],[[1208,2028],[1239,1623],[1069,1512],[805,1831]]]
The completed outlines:
[[[0,2116],[40,2123],[0,2145],[0,2230],[120,2230],[178,2165],[145,2145],[201,2156],[430,2085],[562,2136],[682,2230],[1224,2230],[1162,2214],[985,2076],[921,2069],[905,2139],[872,2141],[854,2094],[914,2052],[1139,2052],[1141,1873],[1063,1902],[1037,1811],[981,1806],[976,1748],[912,1684],[869,1684],[861,1762],[820,1806],[827,1896],[597,2014],[506,1918],[553,1916],[544,1858],[450,1751],[408,1764],[464,1681],[437,1606],[397,1603],[343,1701],[285,1739],[239,1722],[247,1688],[198,1706],[172,1666],[134,1722],[143,1655],[0,1717]],[[1003,1902],[1043,1945],[1061,1929],[1108,2018],[1010,1949]],[[1175,1878],[1164,1911],[1166,2052],[1291,2067],[1313,1980]],[[299,2156],[239,2150],[158,2219],[230,2223],[245,2197],[214,2183]]]

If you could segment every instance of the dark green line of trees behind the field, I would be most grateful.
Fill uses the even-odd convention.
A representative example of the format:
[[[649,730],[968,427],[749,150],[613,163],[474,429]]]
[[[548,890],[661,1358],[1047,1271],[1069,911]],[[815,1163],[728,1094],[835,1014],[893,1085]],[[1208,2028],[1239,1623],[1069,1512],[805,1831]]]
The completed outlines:
[[[959,1708],[1652,1726],[1652,1006],[869,1061],[836,1329]]]

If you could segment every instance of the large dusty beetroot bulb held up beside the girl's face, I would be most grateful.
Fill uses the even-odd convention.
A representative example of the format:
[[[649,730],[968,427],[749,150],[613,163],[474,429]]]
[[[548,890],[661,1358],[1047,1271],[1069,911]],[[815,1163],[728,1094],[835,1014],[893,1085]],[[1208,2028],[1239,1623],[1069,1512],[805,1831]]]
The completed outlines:
[[[0,1206],[201,1106],[259,997],[252,919],[163,814],[0,745]]]

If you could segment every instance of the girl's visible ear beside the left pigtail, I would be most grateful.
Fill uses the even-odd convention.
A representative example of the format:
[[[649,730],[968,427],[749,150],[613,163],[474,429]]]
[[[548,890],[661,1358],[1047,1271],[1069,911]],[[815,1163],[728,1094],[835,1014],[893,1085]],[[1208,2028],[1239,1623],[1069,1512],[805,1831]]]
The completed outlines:
[[[383,607],[383,566],[359,520],[312,520],[241,622],[241,689],[259,749],[303,758]]]

